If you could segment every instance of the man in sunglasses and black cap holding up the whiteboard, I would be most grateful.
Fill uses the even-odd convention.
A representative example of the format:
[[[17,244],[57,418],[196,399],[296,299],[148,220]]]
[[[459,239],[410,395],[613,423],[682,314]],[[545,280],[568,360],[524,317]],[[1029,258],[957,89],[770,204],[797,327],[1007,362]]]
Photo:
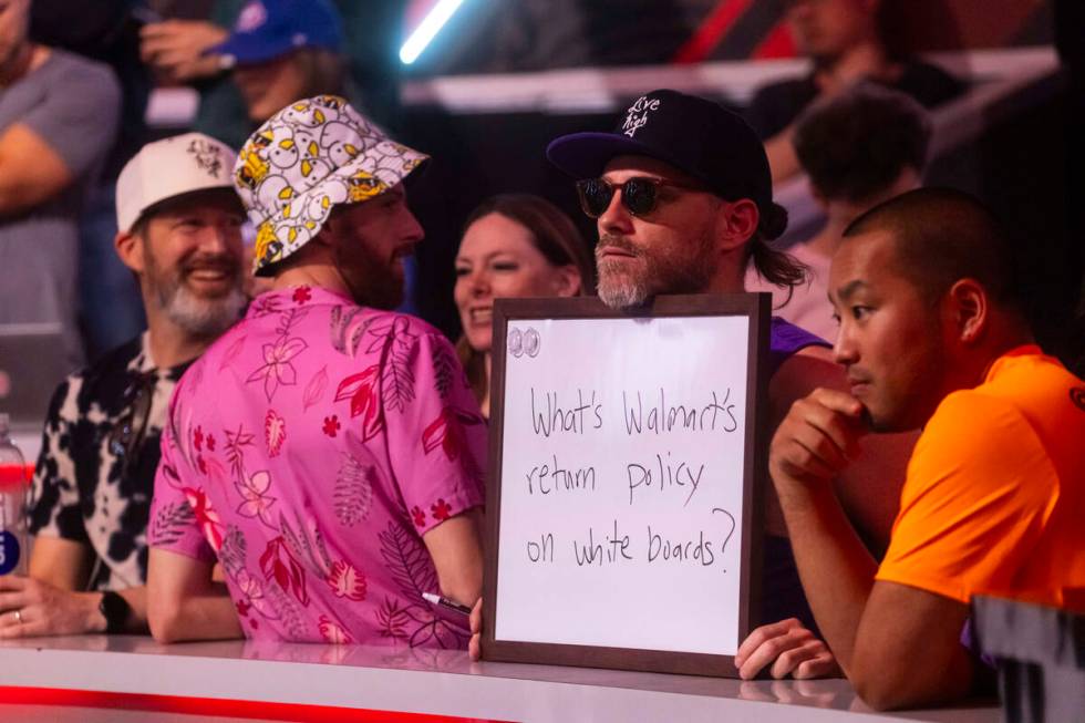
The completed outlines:
[[[716,103],[653,91],[637,99],[612,132],[562,136],[547,157],[577,179],[581,207],[596,219],[599,297],[610,307],[636,307],[663,293],[742,292],[751,258],[775,285],[805,279],[800,264],[767,245],[784,231],[787,213],[773,203],[764,146]],[[774,428],[814,389],[847,389],[828,343],[779,318],[772,321],[769,364]],[[845,508],[876,552],[889,539],[910,442],[878,438],[857,462],[862,468],[837,481]],[[751,678],[771,665],[777,678],[838,674],[810,632],[814,620],[778,503],[771,490],[768,497],[762,621],[769,624],[740,647],[740,672]]]

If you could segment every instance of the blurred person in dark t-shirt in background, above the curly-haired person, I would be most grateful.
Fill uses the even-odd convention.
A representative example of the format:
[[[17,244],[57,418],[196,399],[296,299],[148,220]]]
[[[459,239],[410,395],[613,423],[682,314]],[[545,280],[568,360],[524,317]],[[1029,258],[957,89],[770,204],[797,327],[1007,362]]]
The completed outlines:
[[[793,123],[819,96],[868,80],[907,93],[929,109],[964,91],[942,69],[889,52],[879,28],[881,0],[786,0],[786,6],[792,35],[813,69],[805,78],[758,90],[746,112],[751,125],[766,140],[774,183],[798,173]]]

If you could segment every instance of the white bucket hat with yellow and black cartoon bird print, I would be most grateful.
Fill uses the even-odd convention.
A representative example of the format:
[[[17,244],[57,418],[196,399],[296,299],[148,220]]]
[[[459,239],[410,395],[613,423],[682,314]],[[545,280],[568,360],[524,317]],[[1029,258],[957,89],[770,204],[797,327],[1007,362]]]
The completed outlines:
[[[254,272],[270,276],[272,265],[320,233],[332,208],[380,196],[426,158],[339,96],[282,109],[249,137],[234,169],[257,229]]]

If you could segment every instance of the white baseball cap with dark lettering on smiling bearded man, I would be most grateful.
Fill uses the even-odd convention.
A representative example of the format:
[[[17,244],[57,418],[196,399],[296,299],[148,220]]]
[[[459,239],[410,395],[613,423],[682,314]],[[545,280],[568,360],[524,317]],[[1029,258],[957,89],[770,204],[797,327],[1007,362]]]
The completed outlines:
[[[209,188],[232,190],[236,162],[229,146],[203,133],[148,143],[117,178],[117,228],[131,231],[145,210],[168,198]]]

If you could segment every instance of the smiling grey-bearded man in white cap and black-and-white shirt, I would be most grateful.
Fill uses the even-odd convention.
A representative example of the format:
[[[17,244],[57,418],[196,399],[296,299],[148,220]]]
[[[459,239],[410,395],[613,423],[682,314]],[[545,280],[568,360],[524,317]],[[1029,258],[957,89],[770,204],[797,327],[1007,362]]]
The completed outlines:
[[[0,577],[0,638],[146,630],[147,515],[167,402],[244,304],[234,161],[189,133],[144,146],[121,173],[115,246],[148,328],[53,395],[30,577]]]

